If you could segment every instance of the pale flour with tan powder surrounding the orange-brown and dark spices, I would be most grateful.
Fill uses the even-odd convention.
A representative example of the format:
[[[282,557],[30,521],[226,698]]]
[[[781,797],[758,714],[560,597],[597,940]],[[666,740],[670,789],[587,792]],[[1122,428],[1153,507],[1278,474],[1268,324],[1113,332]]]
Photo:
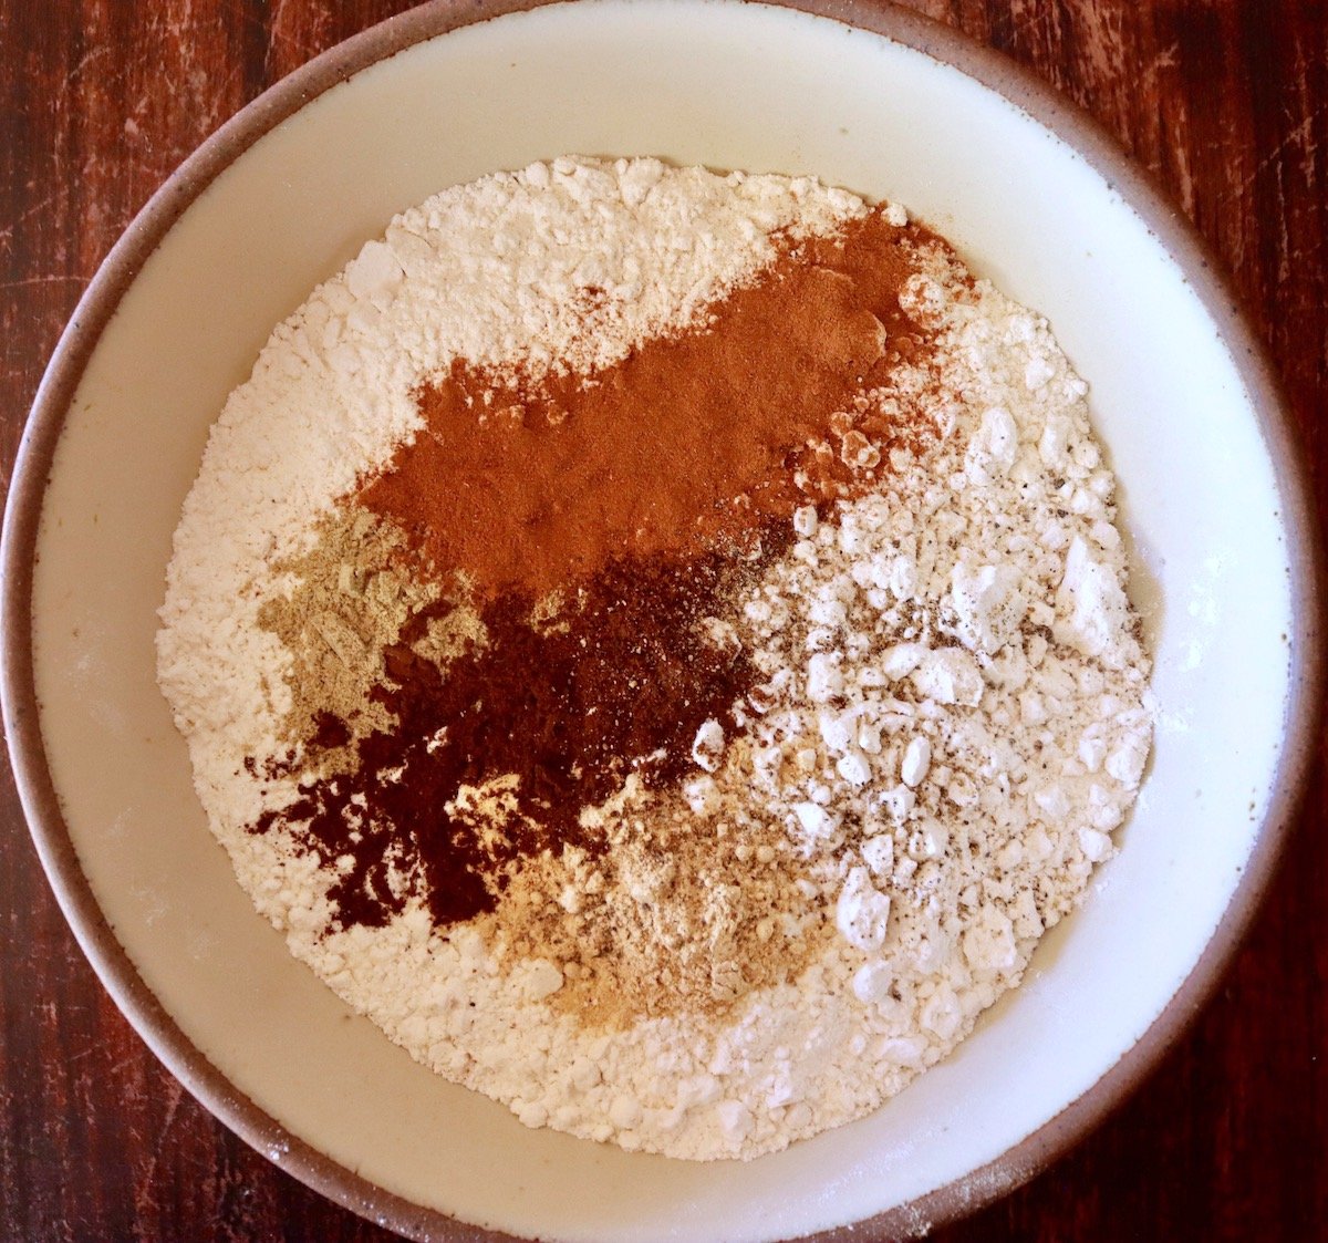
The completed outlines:
[[[347,716],[436,604],[398,583],[390,531],[347,542],[345,498],[421,432],[420,385],[457,359],[594,376],[704,331],[781,239],[866,211],[807,179],[656,161],[445,191],[278,328],[186,502],[158,669],[240,883],[351,1005],[526,1125],[708,1159],[876,1108],[1019,983],[1142,778],[1147,660],[1086,386],[1044,321],[936,246],[900,296],[930,355],[822,446],[884,482],[793,510],[788,551],[708,619],[761,681],[689,737],[677,790],[628,778],[582,809],[603,853],[546,850],[445,928],[404,854],[381,878],[398,910],[364,926],[333,896],[355,861],[300,845],[290,809],[331,703],[309,684]],[[872,414],[926,436],[883,445],[859,430]],[[351,607],[365,566],[389,592],[372,625]],[[382,728],[365,712],[361,732]],[[449,815],[501,845],[511,794],[466,787]]]

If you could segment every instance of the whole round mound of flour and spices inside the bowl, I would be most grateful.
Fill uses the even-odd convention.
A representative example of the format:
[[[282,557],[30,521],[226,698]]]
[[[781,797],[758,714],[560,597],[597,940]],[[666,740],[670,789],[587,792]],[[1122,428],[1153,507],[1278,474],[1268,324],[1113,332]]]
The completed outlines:
[[[555,161],[274,333],[159,679],[292,953],[531,1126],[753,1157],[942,1058],[1139,784],[1085,385],[895,206]]]

